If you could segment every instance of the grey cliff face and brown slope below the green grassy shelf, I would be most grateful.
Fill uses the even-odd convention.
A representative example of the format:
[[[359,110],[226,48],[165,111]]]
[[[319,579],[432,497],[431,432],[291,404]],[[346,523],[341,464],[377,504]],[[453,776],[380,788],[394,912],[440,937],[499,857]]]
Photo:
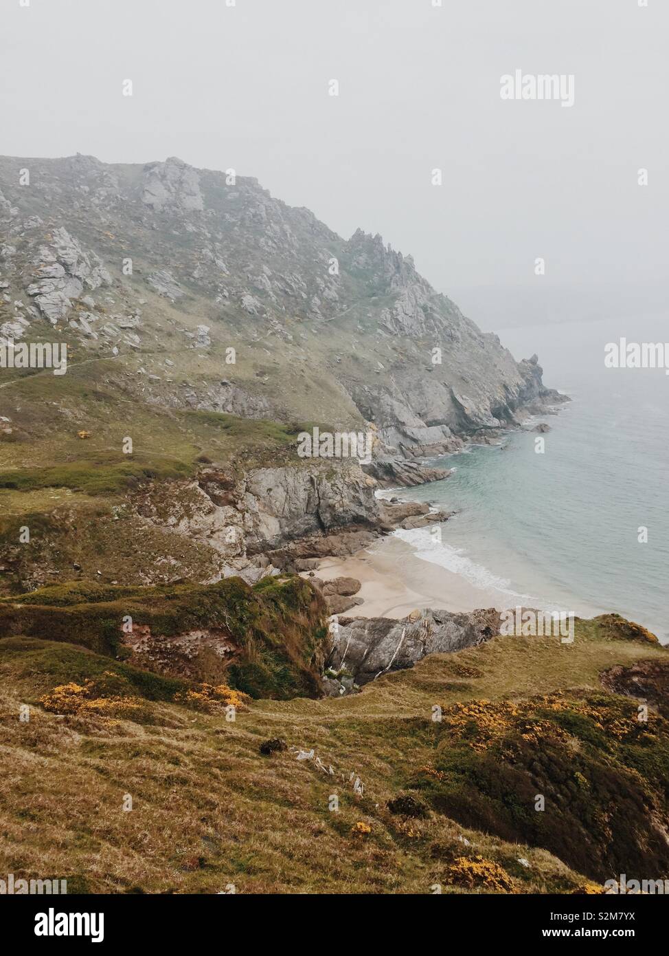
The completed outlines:
[[[395,517],[376,487],[352,464],[201,466],[194,479],[147,482],[122,505],[94,508],[85,520],[70,504],[55,508],[29,546],[20,543],[15,520],[0,521],[0,594],[74,576],[99,580],[101,564],[105,580],[128,584],[233,575],[255,583],[278,569],[295,572],[301,558],[353,554],[409,512],[428,511],[405,507]],[[108,542],[104,561],[99,542]],[[136,554],[132,562],[129,553]]]

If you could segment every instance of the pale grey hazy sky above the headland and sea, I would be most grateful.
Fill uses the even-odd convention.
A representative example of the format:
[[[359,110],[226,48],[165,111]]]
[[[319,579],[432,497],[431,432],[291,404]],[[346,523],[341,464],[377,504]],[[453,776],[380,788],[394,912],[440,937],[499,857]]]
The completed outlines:
[[[0,153],[233,166],[484,328],[665,308],[669,2],[432,2],[0,0]]]

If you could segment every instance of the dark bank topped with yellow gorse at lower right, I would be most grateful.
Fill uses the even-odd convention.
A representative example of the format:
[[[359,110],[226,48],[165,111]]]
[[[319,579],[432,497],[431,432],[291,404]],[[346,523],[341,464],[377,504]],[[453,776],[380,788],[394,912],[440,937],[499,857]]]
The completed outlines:
[[[463,826],[544,847],[603,881],[666,871],[668,779],[669,722],[575,690],[449,707],[411,786]]]

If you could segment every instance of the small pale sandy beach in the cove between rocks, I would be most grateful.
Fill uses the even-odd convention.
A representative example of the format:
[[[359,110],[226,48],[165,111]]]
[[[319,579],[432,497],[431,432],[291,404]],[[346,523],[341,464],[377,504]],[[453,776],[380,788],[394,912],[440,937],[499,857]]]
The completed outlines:
[[[499,594],[475,587],[460,575],[415,556],[414,549],[388,535],[351,557],[326,557],[316,575],[323,580],[356,577],[356,597],[364,603],[348,614],[364,618],[404,618],[416,608],[472,611],[499,606]]]

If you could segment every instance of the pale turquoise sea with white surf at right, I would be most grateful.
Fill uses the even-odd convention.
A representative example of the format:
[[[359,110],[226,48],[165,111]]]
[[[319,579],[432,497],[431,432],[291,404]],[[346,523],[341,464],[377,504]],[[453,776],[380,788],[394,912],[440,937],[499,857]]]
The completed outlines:
[[[669,641],[669,376],[607,369],[604,346],[669,341],[669,322],[602,320],[498,332],[516,359],[536,352],[544,382],[573,399],[542,436],[438,459],[449,479],[407,497],[459,513],[441,543],[403,532],[419,556],[493,587],[514,602],[617,611]],[[648,529],[639,543],[638,529]]]

